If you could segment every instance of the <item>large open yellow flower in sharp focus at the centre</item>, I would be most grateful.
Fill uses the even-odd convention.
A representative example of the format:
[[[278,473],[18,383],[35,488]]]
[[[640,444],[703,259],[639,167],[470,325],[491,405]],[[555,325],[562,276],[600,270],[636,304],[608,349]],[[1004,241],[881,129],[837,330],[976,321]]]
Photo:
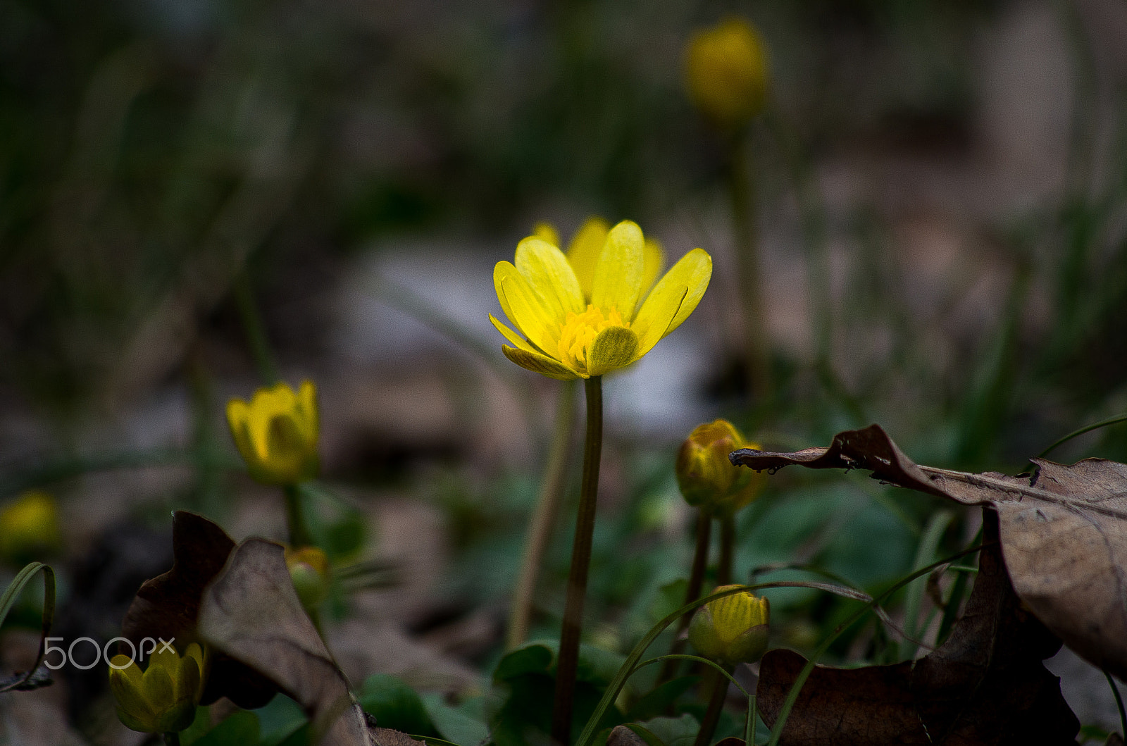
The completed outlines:
[[[588,221],[568,257],[542,238],[521,241],[515,264],[498,261],[494,268],[497,300],[517,329],[489,316],[513,344],[502,347],[505,356],[568,381],[625,367],[653,349],[696,308],[712,275],[712,258],[693,249],[644,297],[645,247],[641,229],[631,221],[605,237]]]

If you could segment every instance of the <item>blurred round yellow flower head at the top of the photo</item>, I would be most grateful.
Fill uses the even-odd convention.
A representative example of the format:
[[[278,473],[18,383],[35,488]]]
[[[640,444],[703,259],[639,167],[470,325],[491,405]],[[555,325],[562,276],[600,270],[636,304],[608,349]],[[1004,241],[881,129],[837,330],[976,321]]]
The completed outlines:
[[[758,32],[730,17],[693,34],[685,54],[693,104],[721,127],[737,127],[760,113],[766,99],[767,60]]]

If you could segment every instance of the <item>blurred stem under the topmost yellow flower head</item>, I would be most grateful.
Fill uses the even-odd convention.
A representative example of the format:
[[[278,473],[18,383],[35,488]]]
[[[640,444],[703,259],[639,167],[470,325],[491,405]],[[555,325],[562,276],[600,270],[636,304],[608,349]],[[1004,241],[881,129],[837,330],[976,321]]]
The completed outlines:
[[[748,168],[747,133],[728,141],[728,194],[731,198],[733,232],[739,274],[739,301],[744,312],[744,344],[752,397],[771,398],[771,366],[767,358],[766,311],[760,283],[760,246],[755,225],[755,178]]]

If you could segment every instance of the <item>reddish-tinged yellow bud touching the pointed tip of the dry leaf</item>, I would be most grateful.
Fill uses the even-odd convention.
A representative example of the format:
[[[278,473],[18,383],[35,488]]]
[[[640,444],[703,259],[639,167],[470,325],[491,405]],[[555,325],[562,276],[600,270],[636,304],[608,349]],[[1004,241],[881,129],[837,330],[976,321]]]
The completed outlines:
[[[708,507],[720,516],[731,515],[755,499],[765,476],[734,467],[728,454],[737,449],[758,449],[744,439],[726,419],[698,425],[677,451],[677,486],[693,507]]]

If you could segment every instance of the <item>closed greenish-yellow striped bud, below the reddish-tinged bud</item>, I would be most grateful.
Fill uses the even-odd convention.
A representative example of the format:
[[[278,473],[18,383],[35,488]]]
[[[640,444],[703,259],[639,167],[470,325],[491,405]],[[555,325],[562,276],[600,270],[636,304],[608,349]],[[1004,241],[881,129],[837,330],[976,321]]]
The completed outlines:
[[[720,586],[712,593],[738,588]],[[749,590],[704,604],[689,623],[689,641],[706,658],[735,666],[755,663],[767,649],[771,604]]]

